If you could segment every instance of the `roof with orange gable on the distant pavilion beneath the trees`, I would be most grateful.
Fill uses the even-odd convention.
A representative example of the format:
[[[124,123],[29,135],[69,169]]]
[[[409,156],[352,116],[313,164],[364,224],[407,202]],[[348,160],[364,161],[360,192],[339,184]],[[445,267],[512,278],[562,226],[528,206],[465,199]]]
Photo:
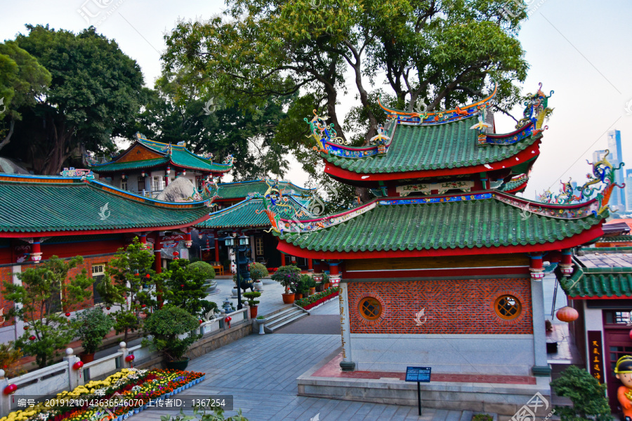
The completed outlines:
[[[140,151],[139,148],[145,149],[145,153],[141,153],[143,151]],[[136,151],[136,154],[139,155],[138,158],[131,154],[133,151]],[[213,162],[212,159],[213,154],[199,156],[190,152],[184,145],[184,142],[178,142],[178,145],[171,145],[170,143],[148,140],[144,135],[136,133],[136,140],[131,147],[121,152],[118,156],[112,157],[112,161],[98,162],[91,156],[87,156],[85,161],[88,167],[96,173],[161,166],[173,166],[174,169],[182,168],[209,173],[227,173],[234,163],[234,158],[230,154],[224,159],[223,163]]]

